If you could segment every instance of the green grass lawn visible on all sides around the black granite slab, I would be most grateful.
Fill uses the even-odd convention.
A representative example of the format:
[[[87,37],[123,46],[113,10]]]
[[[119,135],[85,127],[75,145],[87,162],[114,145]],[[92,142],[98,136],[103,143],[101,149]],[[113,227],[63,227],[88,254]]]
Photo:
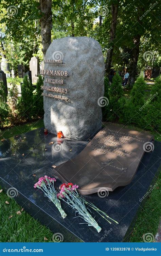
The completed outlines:
[[[43,120],[14,126],[13,128],[2,130],[0,139],[7,139],[43,126]],[[142,130],[133,126],[128,126],[127,128]],[[153,134],[155,139],[160,141],[158,133],[154,132]],[[150,193],[138,216],[135,228],[129,238],[130,242],[143,242],[142,236],[146,233],[152,233],[154,237],[156,235],[161,212],[159,202],[161,174],[156,182],[157,187]],[[8,201],[9,204],[6,204],[5,201]],[[22,207],[14,199],[9,198],[3,191],[0,193],[0,229],[2,230],[0,242],[44,242],[44,237],[48,239],[45,242],[53,242],[53,233],[47,227],[42,226],[24,210],[21,212],[21,215],[16,214],[21,209]],[[59,230],[55,230],[55,233],[57,232]]]

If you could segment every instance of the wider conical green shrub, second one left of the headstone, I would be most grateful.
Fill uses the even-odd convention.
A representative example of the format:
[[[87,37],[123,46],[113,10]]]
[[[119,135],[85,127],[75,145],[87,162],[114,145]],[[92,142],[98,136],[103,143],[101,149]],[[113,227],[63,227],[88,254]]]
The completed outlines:
[[[28,76],[23,78],[21,97],[17,103],[19,118],[31,120],[33,116],[33,86]]]

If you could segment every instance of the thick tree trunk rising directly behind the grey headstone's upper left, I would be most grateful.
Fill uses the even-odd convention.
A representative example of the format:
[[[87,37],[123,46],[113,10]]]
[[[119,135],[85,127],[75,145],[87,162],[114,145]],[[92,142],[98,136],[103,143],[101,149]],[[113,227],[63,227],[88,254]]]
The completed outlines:
[[[41,18],[40,18],[40,26],[41,26],[41,42],[42,42],[42,52],[43,59],[45,58],[45,54],[49,45],[51,44],[51,30],[52,30],[52,0],[39,0],[40,10],[41,10]]]

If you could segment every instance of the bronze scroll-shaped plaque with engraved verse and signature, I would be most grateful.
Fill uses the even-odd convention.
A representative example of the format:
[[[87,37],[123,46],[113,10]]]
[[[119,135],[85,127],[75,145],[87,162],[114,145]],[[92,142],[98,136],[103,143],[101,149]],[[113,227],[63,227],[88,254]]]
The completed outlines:
[[[79,155],[55,168],[59,179],[76,183],[82,195],[128,185],[144,153],[154,149],[152,135],[105,126]]]

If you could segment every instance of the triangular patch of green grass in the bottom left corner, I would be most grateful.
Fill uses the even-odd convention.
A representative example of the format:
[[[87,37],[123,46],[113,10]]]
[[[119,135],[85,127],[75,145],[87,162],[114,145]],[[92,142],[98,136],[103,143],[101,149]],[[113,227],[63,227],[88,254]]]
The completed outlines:
[[[53,242],[53,233],[49,228],[42,226],[24,210],[21,215],[17,214],[21,209],[13,198],[0,193],[0,242],[44,242],[44,237],[48,239],[45,241]]]

